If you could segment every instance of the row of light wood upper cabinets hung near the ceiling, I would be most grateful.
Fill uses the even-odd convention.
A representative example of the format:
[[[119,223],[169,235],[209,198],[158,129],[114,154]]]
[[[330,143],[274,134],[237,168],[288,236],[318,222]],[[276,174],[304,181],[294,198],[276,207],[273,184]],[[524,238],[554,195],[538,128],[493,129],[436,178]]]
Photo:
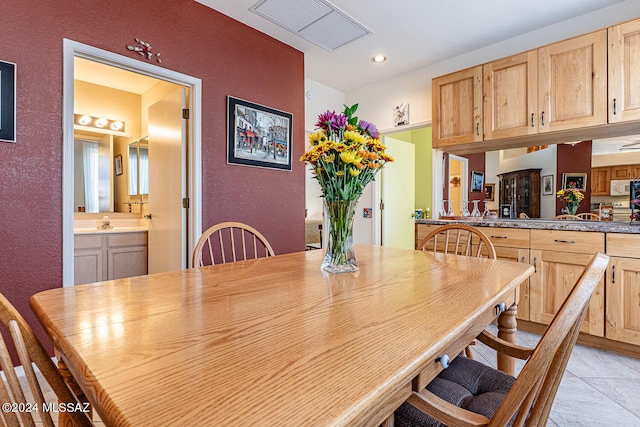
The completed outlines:
[[[435,78],[432,93],[433,147],[452,153],[628,134],[640,19]]]

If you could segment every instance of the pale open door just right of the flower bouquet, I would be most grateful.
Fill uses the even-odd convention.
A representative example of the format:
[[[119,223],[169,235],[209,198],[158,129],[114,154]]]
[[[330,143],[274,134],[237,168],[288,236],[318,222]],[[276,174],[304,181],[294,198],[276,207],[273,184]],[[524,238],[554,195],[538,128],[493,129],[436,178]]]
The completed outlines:
[[[395,161],[382,168],[382,244],[415,247],[415,146],[385,137],[387,153]]]

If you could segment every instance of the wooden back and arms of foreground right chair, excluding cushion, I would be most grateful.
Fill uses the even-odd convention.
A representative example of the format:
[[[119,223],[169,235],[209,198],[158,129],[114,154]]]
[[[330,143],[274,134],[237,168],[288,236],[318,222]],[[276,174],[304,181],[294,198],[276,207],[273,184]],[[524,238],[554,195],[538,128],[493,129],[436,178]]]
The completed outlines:
[[[473,420],[473,425],[505,426],[512,419],[514,426],[545,425],[589,300],[604,275],[608,261],[609,257],[602,253],[591,259],[535,349],[527,351],[493,338],[494,348],[502,351],[512,346],[513,355],[528,360],[491,419],[459,408],[427,389],[414,392],[408,402],[446,425],[471,425],[460,420]],[[483,333],[478,339],[489,343],[488,336]]]

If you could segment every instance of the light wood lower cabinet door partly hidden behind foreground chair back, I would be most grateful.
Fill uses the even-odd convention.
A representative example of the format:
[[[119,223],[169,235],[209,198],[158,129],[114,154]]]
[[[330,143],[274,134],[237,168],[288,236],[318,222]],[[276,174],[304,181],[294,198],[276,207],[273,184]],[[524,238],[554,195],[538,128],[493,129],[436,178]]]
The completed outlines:
[[[531,321],[551,323],[591,257],[590,254],[531,250],[530,258],[535,268],[529,278]],[[591,297],[580,331],[604,336],[604,278]]]

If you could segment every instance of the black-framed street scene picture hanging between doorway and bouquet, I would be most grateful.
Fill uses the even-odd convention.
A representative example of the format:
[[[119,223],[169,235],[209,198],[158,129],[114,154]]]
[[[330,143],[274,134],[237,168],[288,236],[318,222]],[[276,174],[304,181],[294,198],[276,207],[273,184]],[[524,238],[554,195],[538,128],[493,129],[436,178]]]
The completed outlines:
[[[291,170],[291,113],[232,96],[227,109],[227,163]]]

